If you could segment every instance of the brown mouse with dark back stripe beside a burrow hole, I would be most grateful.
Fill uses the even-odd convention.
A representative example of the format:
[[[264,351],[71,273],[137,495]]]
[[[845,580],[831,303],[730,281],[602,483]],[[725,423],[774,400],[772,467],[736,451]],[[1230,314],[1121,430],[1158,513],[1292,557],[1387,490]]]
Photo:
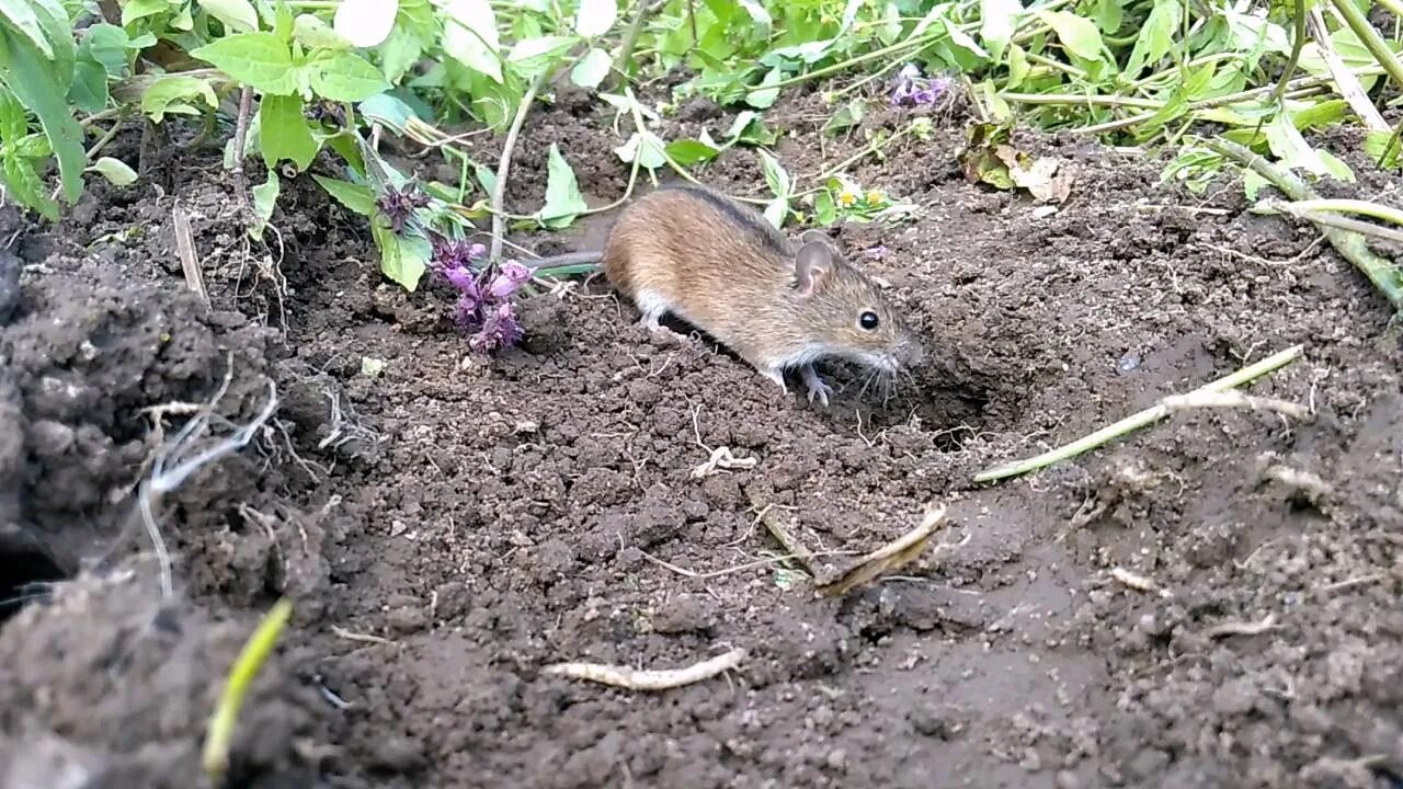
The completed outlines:
[[[829,404],[815,362],[840,358],[892,378],[925,350],[881,288],[821,230],[798,244],[758,211],[711,188],[658,188],[619,215],[602,251],[532,261],[598,263],[634,303],[638,323],[668,331],[673,314],[734,351],[787,394],[797,371],[808,402]]]

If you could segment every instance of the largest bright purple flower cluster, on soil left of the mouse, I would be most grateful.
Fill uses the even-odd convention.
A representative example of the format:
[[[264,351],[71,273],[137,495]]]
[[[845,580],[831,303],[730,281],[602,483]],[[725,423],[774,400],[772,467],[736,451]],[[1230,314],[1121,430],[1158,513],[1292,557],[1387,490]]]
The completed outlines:
[[[439,240],[434,268],[457,289],[455,320],[471,336],[474,351],[494,351],[516,344],[522,337],[512,293],[530,279],[530,270],[516,261],[499,267],[485,263],[487,247],[462,239]]]

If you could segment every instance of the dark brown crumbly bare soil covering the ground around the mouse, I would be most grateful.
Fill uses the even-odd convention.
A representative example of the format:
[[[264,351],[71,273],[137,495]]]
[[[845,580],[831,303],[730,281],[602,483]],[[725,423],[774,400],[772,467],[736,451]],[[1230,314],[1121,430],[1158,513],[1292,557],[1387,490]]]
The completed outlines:
[[[609,115],[556,98],[521,140],[513,211],[540,205],[551,143],[592,205],[624,192]],[[689,105],[662,131],[730,119]],[[835,138],[810,94],[767,119],[803,181],[908,115]],[[1069,201],[971,185],[962,122],[853,170],[919,206],[835,239],[932,354],[885,402],[832,369],[829,409],[634,326],[599,281],[528,299],[521,347],[470,354],[450,292],[386,282],[363,220],[310,178],[246,241],[217,156],[94,183],[58,227],[0,216],[0,788],[208,785],[209,710],[282,595],[233,786],[1403,786],[1388,305],[1240,185],[1194,197],[1160,160],[1020,133],[1070,168]],[[1361,178],[1341,194],[1397,198],[1330,139]],[[762,192],[752,149],[704,178]],[[607,222],[512,240],[598,247]],[[1298,343],[1249,390],[1308,418],[1181,411],[969,482]],[[248,424],[142,517],[140,480]],[[720,448],[753,466],[694,475]],[[838,599],[758,518],[832,573],[932,501],[939,546]],[[735,670],[664,692],[543,671],[734,647]]]

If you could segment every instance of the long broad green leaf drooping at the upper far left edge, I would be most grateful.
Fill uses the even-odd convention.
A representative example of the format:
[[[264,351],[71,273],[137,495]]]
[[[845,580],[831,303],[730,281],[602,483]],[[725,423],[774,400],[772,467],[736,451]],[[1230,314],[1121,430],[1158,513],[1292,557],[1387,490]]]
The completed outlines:
[[[51,63],[28,39],[0,27],[0,81],[14,93],[21,104],[39,118],[43,133],[59,160],[59,178],[69,204],[83,194],[83,128],[73,119],[65,101],[67,90],[55,80]]]

